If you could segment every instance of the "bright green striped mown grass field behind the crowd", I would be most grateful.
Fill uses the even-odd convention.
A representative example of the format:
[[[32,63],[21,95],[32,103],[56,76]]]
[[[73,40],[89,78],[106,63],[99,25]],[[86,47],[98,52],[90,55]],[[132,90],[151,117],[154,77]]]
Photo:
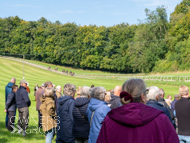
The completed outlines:
[[[40,62],[32,61],[33,63],[37,64],[44,64]],[[46,64],[45,64],[46,65]],[[49,66],[48,64],[46,65]],[[56,67],[56,66],[55,66]],[[13,134],[6,130],[5,128],[5,86],[10,81],[12,77],[15,77],[17,79],[16,84],[19,84],[19,81],[23,78],[23,64],[20,62],[15,62],[12,60],[4,59],[0,57],[0,143],[43,143],[45,139],[45,135],[40,133],[39,131],[36,132],[36,125],[37,125],[37,111],[36,111],[36,103],[34,100],[34,92],[33,88],[36,83],[41,85],[45,81],[52,81],[53,84],[64,86],[65,83],[72,83],[78,86],[91,86],[94,84],[95,86],[103,86],[107,90],[113,89],[115,85],[122,85],[124,83],[123,81],[118,80],[101,80],[101,79],[83,79],[83,78],[77,78],[77,77],[71,77],[66,75],[61,75],[58,73],[53,73],[47,70],[42,70],[36,67],[32,67],[29,65],[24,65],[25,68],[25,79],[29,82],[29,87],[31,90],[30,93],[30,99],[31,99],[31,106],[30,106],[30,122],[29,122],[29,128],[28,132],[30,132],[27,137],[22,137],[22,135],[19,134]],[[63,67],[60,67],[63,68]],[[74,71],[74,70],[73,70]],[[74,72],[79,72],[81,74],[85,74],[85,70],[77,70],[75,69]],[[104,73],[99,71],[87,71],[87,73]],[[147,82],[148,86],[155,85],[160,88],[163,88],[166,92],[166,95],[175,95],[178,93],[179,85],[167,85],[166,83],[154,83],[154,82]],[[17,112],[18,116],[18,112]],[[17,120],[16,120],[17,122]],[[55,142],[55,138],[54,138]]]

